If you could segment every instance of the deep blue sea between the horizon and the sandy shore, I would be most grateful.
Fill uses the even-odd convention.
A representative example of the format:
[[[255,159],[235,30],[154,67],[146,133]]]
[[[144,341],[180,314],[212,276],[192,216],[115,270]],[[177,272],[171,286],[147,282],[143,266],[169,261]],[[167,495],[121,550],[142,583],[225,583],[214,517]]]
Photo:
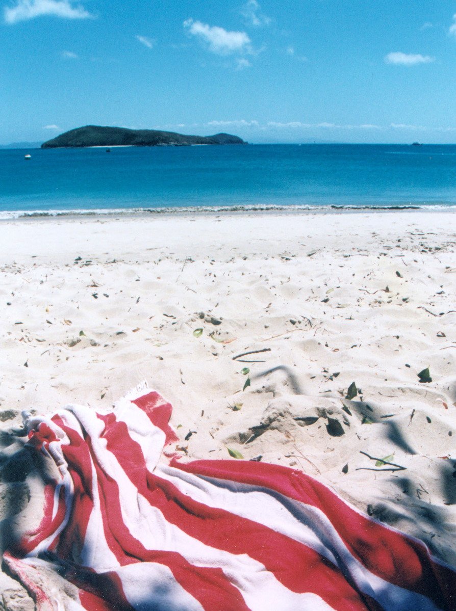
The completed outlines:
[[[0,219],[56,211],[455,205],[456,145],[0,150]]]

